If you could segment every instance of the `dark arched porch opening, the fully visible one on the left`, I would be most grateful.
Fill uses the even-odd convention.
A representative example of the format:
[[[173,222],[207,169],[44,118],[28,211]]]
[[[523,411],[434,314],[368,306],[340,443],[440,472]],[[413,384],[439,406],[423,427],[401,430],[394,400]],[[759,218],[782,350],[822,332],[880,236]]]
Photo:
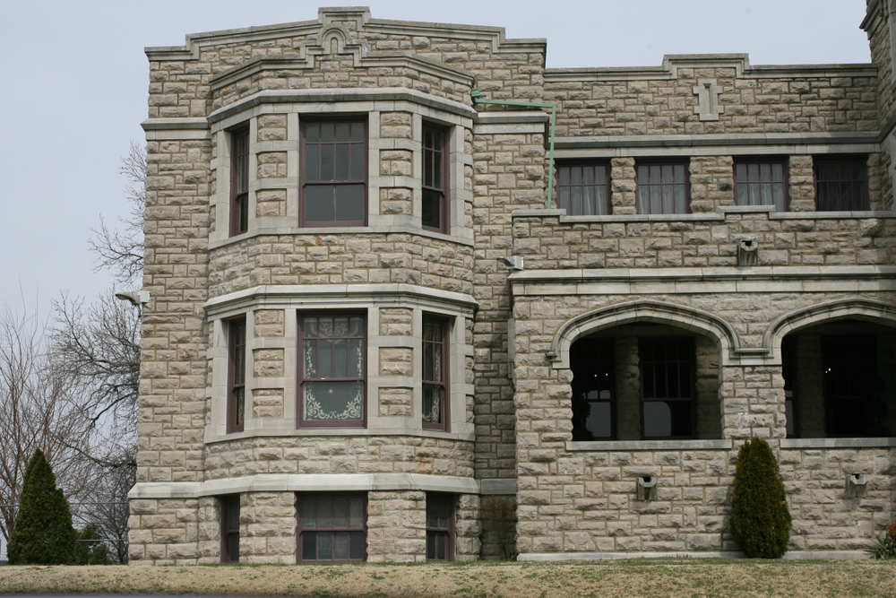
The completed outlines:
[[[721,438],[719,346],[633,323],[570,347],[573,441]]]

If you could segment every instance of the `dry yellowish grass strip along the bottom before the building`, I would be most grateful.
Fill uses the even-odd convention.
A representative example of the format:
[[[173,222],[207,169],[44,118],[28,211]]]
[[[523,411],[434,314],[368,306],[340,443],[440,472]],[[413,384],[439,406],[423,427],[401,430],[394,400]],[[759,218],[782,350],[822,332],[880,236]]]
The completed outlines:
[[[590,563],[0,567],[0,594],[605,598],[896,598],[896,560],[629,559]]]

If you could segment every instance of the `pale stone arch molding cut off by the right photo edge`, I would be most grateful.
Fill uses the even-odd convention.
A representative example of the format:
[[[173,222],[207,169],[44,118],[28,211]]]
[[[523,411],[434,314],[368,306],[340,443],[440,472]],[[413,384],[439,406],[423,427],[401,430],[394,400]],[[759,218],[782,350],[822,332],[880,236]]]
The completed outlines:
[[[865,320],[880,325],[896,327],[896,305],[878,301],[852,297],[825,301],[809,308],[780,316],[769,325],[762,339],[762,346],[769,349],[780,362],[781,340],[789,333],[822,322],[843,319]]]

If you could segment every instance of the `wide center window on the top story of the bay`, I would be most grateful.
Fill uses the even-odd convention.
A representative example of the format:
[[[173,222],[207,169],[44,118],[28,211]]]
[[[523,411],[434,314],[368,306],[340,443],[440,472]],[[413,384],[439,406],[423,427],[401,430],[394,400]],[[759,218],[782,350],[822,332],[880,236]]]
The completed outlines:
[[[304,121],[301,162],[302,226],[366,224],[366,121]]]

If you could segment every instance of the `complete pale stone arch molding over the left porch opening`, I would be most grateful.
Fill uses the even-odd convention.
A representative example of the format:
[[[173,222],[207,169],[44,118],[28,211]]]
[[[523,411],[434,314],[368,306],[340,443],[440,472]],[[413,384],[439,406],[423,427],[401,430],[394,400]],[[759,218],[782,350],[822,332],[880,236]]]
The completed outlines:
[[[665,324],[709,335],[719,343],[722,361],[731,359],[739,350],[734,328],[718,316],[674,303],[631,301],[594,309],[560,326],[554,335],[551,351],[547,353],[552,368],[569,368],[570,346],[582,336],[632,322]]]

